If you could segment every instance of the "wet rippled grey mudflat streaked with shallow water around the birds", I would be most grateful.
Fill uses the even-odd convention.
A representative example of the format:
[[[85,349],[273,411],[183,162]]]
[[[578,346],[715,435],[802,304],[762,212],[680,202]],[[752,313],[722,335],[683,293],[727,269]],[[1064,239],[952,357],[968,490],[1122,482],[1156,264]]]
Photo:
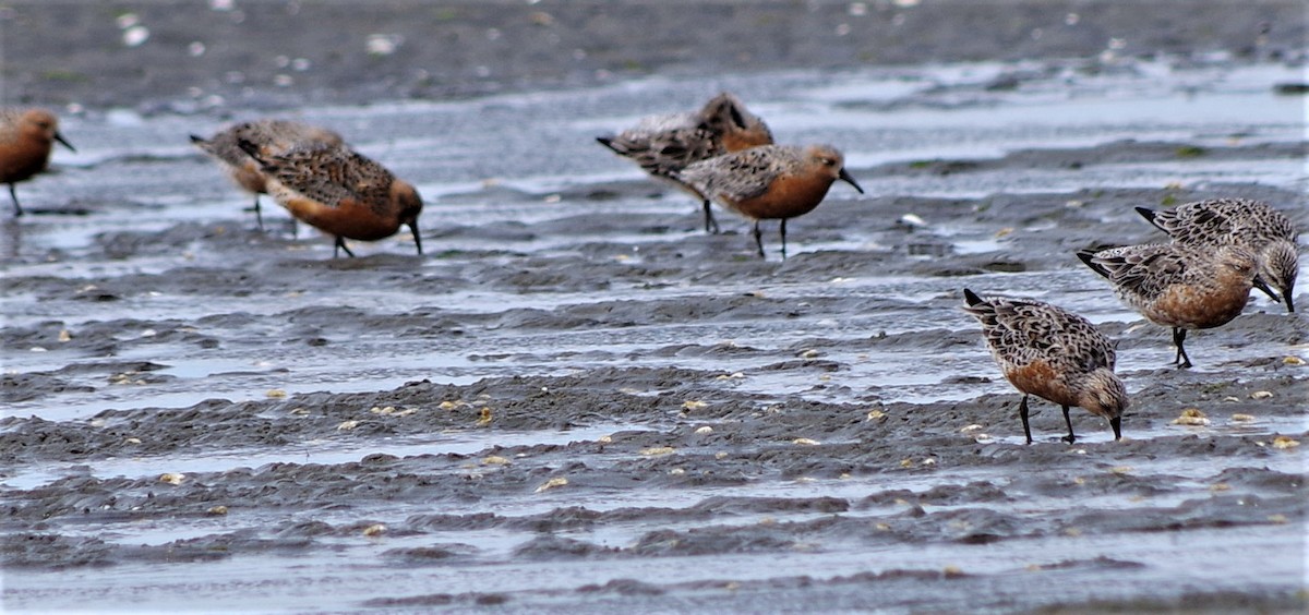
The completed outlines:
[[[113,13],[18,3],[5,51],[27,37],[14,20],[84,24],[110,51],[51,58],[111,75],[101,62],[128,71],[232,20],[169,4],[194,10],[162,26],[183,12],[134,7],[151,39],[119,48]],[[285,10],[236,4],[251,27]],[[330,21],[332,3],[298,14],[353,41],[406,25],[386,21],[402,4],[363,25]],[[618,4],[651,24],[694,13]],[[813,5],[810,33],[859,12]],[[973,37],[980,17],[953,3],[868,3],[922,43],[885,62],[856,34],[763,56],[747,26],[804,5],[712,4],[700,18],[733,16],[720,37],[661,47],[619,44],[631,25],[597,5],[546,1],[528,8],[554,21],[530,26],[522,4],[500,24],[456,5],[480,38],[420,47],[404,30],[421,52],[359,60],[377,81],[346,84],[357,67],[298,37],[249,52],[313,58],[313,76],[243,93],[185,92],[236,62],[216,44],[199,62],[228,64],[152,62],[169,68],[120,88],[7,72],[10,102],[81,109],[64,124],[79,152],[21,184],[31,215],[0,228],[4,608],[1304,610],[1304,315],[1255,293],[1191,334],[1196,365],[1177,370],[1168,331],[1073,256],[1161,241],[1136,205],[1246,196],[1309,225],[1304,98],[1275,88],[1302,73],[1287,50],[1304,16],[1213,3],[1213,27],[1186,12],[1164,34],[1121,3],[1079,3],[1100,10],[1072,25],[1066,7],[996,5],[1013,21]],[[1241,25],[1270,20],[1249,42]],[[1033,38],[1046,24],[1077,35]],[[535,43],[496,56],[492,26],[594,48],[560,71]],[[720,42],[742,64],[685,58]],[[456,48],[503,64],[410,89],[389,64],[449,68]],[[982,59],[1003,62],[956,63]],[[868,190],[836,184],[792,221],[785,260],[776,225],[758,259],[745,221],[721,212],[726,233],[704,234],[696,203],[590,140],[720,89],[779,140],[844,149]],[[267,200],[255,230],[186,135],[272,109],[414,182],[428,254],[395,237],[334,260]],[[1063,444],[1058,408],[1034,400],[1024,446],[965,287],[1118,339],[1124,440],[1075,410]],[[1187,408],[1203,417],[1178,421]]]

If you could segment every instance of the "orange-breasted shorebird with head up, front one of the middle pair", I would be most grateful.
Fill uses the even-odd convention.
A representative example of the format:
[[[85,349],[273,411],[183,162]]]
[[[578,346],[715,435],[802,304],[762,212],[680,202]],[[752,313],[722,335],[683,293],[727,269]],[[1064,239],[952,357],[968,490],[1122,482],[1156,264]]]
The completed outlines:
[[[846,171],[846,158],[831,145],[761,145],[695,162],[675,177],[703,195],[706,211],[709,200],[717,200],[753,220],[761,256],[761,220],[781,220],[781,258],[787,258],[788,219],[818,207],[836,179],[864,194]]]

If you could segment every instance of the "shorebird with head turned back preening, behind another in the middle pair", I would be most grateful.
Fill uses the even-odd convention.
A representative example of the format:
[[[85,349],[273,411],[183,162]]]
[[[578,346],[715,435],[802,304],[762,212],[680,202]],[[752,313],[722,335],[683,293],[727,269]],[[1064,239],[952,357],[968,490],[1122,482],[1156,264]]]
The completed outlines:
[[[677,173],[692,162],[768,145],[772,132],[768,124],[745,109],[740,98],[724,92],[699,111],[643,118],[632,128],[596,140],[641,165],[645,173],[673,182],[704,202],[704,195],[678,179]],[[704,202],[704,230],[719,232],[708,202]]]

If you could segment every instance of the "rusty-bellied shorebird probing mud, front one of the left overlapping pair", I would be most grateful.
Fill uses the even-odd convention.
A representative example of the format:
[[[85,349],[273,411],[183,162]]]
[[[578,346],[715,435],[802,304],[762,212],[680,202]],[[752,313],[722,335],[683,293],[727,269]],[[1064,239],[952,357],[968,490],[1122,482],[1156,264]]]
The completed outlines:
[[[332,258],[339,250],[355,255],[346,238],[384,239],[401,225],[410,228],[414,246],[423,254],[418,233],[423,199],[382,165],[344,147],[301,144],[268,154],[246,140],[237,145],[259,162],[270,196],[297,220],[336,238]]]

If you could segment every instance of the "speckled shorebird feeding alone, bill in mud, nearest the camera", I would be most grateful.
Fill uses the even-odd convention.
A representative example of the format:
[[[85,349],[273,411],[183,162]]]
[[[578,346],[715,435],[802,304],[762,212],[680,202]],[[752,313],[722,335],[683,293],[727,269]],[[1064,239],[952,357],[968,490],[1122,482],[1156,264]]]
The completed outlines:
[[[1072,444],[1068,408],[1080,406],[1109,419],[1114,440],[1122,440],[1127,390],[1114,374],[1114,342],[1085,318],[1062,308],[1028,298],[978,297],[963,289],[967,311],[982,323],[991,356],[1004,377],[1022,393],[1018,416],[1022,433],[1031,444],[1028,424],[1028,396],[1037,395],[1063,407]]]

